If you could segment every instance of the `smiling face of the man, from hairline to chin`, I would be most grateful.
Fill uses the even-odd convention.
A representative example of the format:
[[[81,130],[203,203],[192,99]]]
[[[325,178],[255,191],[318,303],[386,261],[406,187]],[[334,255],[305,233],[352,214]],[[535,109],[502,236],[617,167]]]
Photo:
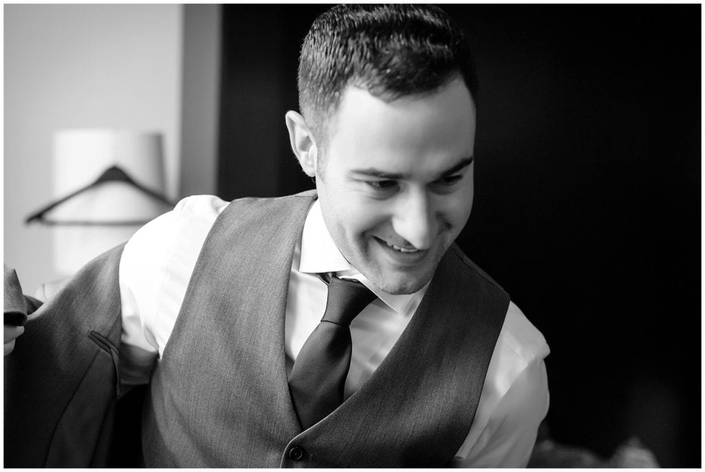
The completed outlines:
[[[470,216],[470,92],[455,80],[387,103],[348,87],[328,129],[317,189],[333,241],[381,290],[416,292]]]

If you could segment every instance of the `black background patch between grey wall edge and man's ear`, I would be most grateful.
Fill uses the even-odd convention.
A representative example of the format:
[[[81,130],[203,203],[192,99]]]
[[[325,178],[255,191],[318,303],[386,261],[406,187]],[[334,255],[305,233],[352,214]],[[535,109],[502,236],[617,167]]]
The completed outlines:
[[[274,197],[314,187],[291,151],[284,114],[298,110],[299,49],[326,8],[223,7],[219,197]]]

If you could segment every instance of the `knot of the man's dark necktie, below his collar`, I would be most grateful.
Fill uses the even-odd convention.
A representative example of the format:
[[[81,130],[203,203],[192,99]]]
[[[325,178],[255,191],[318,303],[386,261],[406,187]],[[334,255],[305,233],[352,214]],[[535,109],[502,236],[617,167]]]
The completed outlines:
[[[333,277],[328,284],[326,314],[321,321],[350,326],[355,316],[375,298],[376,295],[357,280]]]

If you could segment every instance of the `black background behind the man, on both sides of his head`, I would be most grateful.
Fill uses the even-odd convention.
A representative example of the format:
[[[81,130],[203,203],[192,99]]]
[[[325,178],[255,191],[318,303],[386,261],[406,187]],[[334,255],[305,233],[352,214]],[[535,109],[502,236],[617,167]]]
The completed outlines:
[[[220,197],[312,187],[283,116],[325,8],[223,8]],[[699,6],[443,8],[481,87],[458,243],[551,346],[552,437],[608,456],[636,436],[699,467]]]

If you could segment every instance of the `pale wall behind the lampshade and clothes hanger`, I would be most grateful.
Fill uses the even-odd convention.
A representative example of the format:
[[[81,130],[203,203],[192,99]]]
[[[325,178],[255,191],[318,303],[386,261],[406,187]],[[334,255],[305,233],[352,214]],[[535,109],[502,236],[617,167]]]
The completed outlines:
[[[51,200],[51,135],[159,130],[178,196],[183,6],[6,5],[4,261],[26,292],[56,278],[51,230],[25,217]]]

